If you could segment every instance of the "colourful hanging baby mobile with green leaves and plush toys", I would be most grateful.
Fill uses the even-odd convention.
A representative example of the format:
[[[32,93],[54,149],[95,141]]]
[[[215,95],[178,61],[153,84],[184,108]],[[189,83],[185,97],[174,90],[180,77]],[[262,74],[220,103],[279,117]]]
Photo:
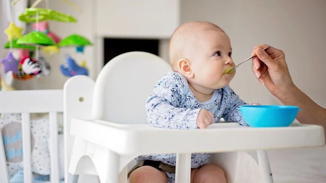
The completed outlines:
[[[60,48],[73,46],[76,48],[77,53],[83,53],[85,46],[92,45],[88,39],[78,34],[72,34],[61,39],[51,32],[48,26],[49,20],[67,23],[77,22],[77,20],[71,15],[48,7],[37,8],[37,4],[41,1],[36,0],[18,17],[22,22],[33,23],[32,32],[21,35],[22,28],[17,27],[13,22],[10,22],[8,28],[4,30],[8,37],[8,42],[5,43],[4,48],[10,50],[8,55],[1,59],[0,63],[3,64],[4,74],[11,71],[13,78],[16,80],[28,80],[34,77],[40,78],[50,75],[51,67],[44,58],[39,56],[39,50],[48,55],[53,55],[59,53]],[[68,0],[65,1],[69,2]],[[13,49],[19,49],[19,59],[14,58]],[[30,56],[30,52],[35,52],[35,57]],[[78,65],[69,55],[66,56],[66,63],[60,65],[60,71],[67,77],[88,75],[86,61],[82,61]]]

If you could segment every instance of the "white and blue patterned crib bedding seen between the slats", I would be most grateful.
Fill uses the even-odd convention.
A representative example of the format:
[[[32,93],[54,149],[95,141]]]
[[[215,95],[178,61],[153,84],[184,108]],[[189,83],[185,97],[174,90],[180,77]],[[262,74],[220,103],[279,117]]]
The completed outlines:
[[[58,123],[62,123],[62,118],[58,117]],[[32,172],[35,175],[50,175],[51,156],[48,148],[48,138],[49,138],[48,114],[46,113],[31,114],[30,126],[31,126]],[[19,177],[20,174],[19,171],[23,170],[21,114],[2,113],[0,115],[0,129],[3,138],[3,145],[4,145],[6,160],[7,160],[7,168],[8,168],[9,176],[10,178],[14,176],[16,176],[17,178]],[[59,140],[59,142],[63,142],[63,140]],[[63,143],[59,144],[59,147],[63,147]],[[59,152],[63,152],[63,151],[59,151]],[[63,161],[63,158],[60,159]],[[62,165],[63,162],[60,164]],[[60,177],[63,177],[63,175]]]

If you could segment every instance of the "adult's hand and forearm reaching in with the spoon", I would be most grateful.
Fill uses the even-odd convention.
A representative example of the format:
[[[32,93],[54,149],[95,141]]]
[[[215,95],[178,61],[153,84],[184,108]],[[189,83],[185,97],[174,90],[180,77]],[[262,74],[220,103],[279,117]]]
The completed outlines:
[[[259,45],[253,49],[252,55],[257,57],[252,59],[252,72],[284,105],[296,105],[302,109],[297,115],[299,122],[322,125],[326,135],[326,108],[295,86],[284,52],[273,47],[263,51],[267,46]]]

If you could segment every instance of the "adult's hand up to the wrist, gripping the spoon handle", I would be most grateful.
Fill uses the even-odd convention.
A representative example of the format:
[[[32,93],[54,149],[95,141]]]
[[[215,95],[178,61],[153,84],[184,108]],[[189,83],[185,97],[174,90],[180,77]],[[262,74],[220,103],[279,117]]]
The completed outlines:
[[[252,59],[252,72],[273,95],[282,94],[294,84],[284,52],[272,46],[264,51],[263,49],[268,46],[263,44],[254,47],[252,55],[257,55],[257,57]]]

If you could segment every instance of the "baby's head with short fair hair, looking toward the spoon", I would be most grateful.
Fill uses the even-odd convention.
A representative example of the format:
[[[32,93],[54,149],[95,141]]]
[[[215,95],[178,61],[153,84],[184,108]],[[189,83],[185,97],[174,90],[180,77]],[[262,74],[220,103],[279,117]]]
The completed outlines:
[[[172,34],[169,60],[172,70],[183,75],[195,88],[220,89],[232,80],[223,74],[234,67],[229,37],[217,25],[206,21],[192,21],[180,25]]]

